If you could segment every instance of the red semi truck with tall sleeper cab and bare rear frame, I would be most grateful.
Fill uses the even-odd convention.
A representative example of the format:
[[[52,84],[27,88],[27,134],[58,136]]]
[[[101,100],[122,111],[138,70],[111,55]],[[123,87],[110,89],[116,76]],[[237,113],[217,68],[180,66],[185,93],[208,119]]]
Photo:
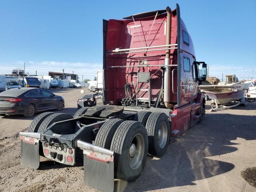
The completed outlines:
[[[103,20],[104,94],[75,116],[46,112],[20,132],[21,164],[39,168],[39,156],[74,165],[84,159],[87,185],[114,190],[114,178],[132,182],[147,155],[161,157],[170,141],[202,120],[197,62],[180,8]]]

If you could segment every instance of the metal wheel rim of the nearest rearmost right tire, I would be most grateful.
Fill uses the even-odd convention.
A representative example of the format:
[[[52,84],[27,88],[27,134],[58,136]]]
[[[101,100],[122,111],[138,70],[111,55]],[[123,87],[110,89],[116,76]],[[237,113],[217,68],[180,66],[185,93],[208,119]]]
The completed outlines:
[[[136,134],[129,148],[129,164],[132,169],[140,166],[144,156],[144,147],[144,138],[141,134]]]

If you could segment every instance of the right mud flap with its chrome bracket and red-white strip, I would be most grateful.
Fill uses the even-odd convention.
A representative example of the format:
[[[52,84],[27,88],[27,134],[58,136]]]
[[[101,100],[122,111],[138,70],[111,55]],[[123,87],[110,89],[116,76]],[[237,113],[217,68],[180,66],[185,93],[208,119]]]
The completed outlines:
[[[80,140],[77,146],[84,153],[84,181],[103,192],[114,191],[114,152]]]

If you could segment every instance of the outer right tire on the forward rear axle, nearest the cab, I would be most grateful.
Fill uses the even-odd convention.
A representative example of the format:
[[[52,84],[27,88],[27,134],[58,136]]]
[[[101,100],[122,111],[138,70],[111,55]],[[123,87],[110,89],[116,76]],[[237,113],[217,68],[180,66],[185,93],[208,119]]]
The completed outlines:
[[[170,138],[170,124],[164,113],[153,112],[146,124],[148,132],[148,153],[155,157],[162,157],[167,150]]]

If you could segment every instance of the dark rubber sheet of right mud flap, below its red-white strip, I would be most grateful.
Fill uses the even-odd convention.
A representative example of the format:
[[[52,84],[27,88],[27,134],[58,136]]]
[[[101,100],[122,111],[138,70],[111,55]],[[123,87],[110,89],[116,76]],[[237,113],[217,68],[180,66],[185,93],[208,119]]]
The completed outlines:
[[[103,192],[114,191],[114,162],[100,162],[84,154],[85,184]]]

